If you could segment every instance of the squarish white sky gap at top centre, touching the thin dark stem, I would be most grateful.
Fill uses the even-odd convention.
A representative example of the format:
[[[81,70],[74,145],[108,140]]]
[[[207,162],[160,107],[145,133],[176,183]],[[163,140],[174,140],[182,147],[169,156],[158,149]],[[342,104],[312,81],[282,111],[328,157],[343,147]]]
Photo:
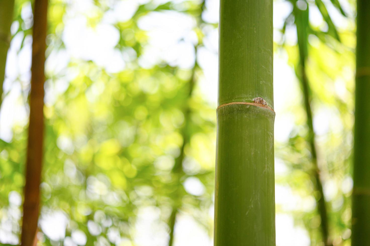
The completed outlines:
[[[197,37],[193,31],[196,21],[192,16],[171,10],[152,12],[141,17],[138,26],[147,31],[149,37],[149,44],[139,57],[140,65],[150,68],[165,61],[174,67],[193,67]]]

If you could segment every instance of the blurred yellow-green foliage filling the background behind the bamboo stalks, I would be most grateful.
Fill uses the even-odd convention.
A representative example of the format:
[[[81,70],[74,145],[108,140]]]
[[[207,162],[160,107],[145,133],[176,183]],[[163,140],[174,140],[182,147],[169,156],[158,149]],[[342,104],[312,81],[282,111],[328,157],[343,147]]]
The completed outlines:
[[[116,2],[119,1],[92,1],[94,7],[82,14],[87,26],[97,28]],[[289,37],[289,33],[292,29],[296,32],[296,25],[302,25],[301,30],[305,30],[302,35],[306,42],[306,72],[315,131],[318,125],[327,126],[325,131],[317,133],[316,145],[334,245],[350,245],[351,234],[355,28],[354,3],[345,1],[343,10],[342,2],[276,1],[275,5],[286,4],[291,13],[283,26],[274,31],[275,57],[294,69],[299,64],[299,50],[297,38]],[[196,53],[204,46],[210,30],[217,28],[217,23],[201,18],[202,11],[211,8],[214,2],[136,3],[130,18],[112,23],[119,33],[114,48],[126,54],[121,71],[112,73],[104,65],[83,58],[71,58],[60,71],[46,70],[45,88],[51,99],[44,108],[46,139],[40,220],[58,212],[67,222],[65,235],[56,237],[48,235],[44,231],[47,227],[40,222],[40,245],[74,245],[75,238],[86,239],[78,245],[144,245],[136,237],[145,208],[158,212],[155,228],[169,232],[171,212],[176,208],[180,214],[194,218],[209,237],[213,236],[216,117],[215,105],[205,99],[199,87],[205,76],[204,68],[198,59],[190,68],[162,60],[154,65],[142,65],[140,59],[150,46],[150,34],[138,23],[152,13],[172,11],[189,16],[195,22],[192,34],[196,37],[193,42]],[[47,63],[49,59],[58,59],[57,54],[67,49],[63,42],[67,16],[81,14],[74,10],[75,4],[50,1]],[[13,37],[23,37],[17,53],[24,49],[25,40],[31,34],[32,21],[22,14],[29,5],[28,0],[16,0],[14,23],[18,24],[13,23],[12,33]],[[342,22],[346,24],[336,26],[330,17],[333,9],[343,16]],[[309,10],[320,13],[320,24],[312,23],[317,16],[309,17]],[[276,81],[275,77],[275,92],[281,92],[276,88],[284,85]],[[21,84],[20,98],[28,110],[29,84],[20,75],[11,86],[16,83]],[[297,79],[294,78],[293,84],[299,88]],[[295,95],[290,96],[293,98],[290,103],[287,101],[275,109],[277,122],[289,119],[292,125],[289,137],[275,143],[276,212],[293,216],[296,228],[307,231],[310,245],[320,245],[317,191],[311,175],[302,94],[295,90]],[[278,126],[275,131],[279,131]],[[9,241],[2,243],[16,244],[20,233],[19,199],[24,186],[27,124],[14,124],[12,133],[11,141],[0,139],[0,231],[7,234]],[[181,162],[180,172],[174,168],[176,162]],[[200,192],[186,189],[186,182],[198,184]],[[166,245],[168,240],[167,233],[160,243],[149,245]]]

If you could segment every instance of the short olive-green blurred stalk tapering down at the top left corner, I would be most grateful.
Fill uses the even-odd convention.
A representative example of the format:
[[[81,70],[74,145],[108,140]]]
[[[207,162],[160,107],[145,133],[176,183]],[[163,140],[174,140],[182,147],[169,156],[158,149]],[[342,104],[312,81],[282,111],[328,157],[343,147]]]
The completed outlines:
[[[14,0],[0,0],[0,108],[3,102],[3,83],[6,57],[10,47],[10,26],[13,21]]]

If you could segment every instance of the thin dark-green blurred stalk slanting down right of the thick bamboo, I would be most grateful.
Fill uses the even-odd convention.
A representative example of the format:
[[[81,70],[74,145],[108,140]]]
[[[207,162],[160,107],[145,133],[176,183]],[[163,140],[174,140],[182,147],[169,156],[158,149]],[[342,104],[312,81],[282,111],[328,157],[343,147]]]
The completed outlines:
[[[307,117],[306,124],[309,130],[307,141],[309,142],[311,150],[311,162],[313,172],[312,174],[314,179],[314,185],[316,186],[316,190],[319,192],[319,198],[317,198],[317,210],[321,219],[320,228],[322,232],[323,242],[325,245],[332,245],[329,238],[329,225],[328,225],[329,223],[322,186],[322,178],[320,175],[320,168],[317,163],[317,149],[315,145],[315,132],[313,129],[313,118],[311,109],[311,90],[306,74],[306,60],[308,57],[307,27],[309,25],[308,8],[306,10],[299,10],[295,5],[295,13],[299,48],[299,64],[296,67],[296,73],[300,81],[303,93],[303,102]]]

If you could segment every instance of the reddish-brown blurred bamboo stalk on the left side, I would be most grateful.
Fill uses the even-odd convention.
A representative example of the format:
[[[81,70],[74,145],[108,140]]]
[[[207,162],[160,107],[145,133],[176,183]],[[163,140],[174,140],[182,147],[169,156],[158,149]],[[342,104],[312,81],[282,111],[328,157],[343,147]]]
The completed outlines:
[[[40,211],[40,181],[44,138],[44,66],[47,32],[47,0],[35,0],[31,65],[30,124],[24,186],[21,243],[32,245]]]

